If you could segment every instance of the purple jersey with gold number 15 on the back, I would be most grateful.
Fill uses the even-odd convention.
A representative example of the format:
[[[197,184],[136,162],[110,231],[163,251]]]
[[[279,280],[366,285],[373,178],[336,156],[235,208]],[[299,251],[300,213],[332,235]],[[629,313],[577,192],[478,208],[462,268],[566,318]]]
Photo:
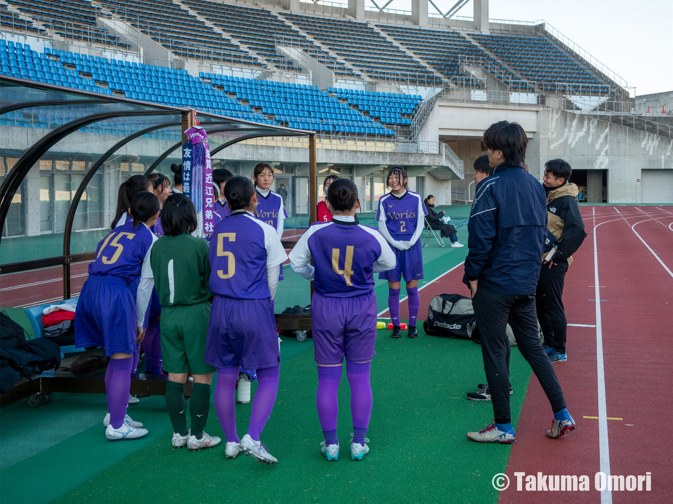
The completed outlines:
[[[96,259],[89,265],[93,276],[115,276],[132,284],[139,278],[153,278],[149,252],[157,241],[154,233],[143,224],[133,227],[129,220],[117,226],[96,247]]]

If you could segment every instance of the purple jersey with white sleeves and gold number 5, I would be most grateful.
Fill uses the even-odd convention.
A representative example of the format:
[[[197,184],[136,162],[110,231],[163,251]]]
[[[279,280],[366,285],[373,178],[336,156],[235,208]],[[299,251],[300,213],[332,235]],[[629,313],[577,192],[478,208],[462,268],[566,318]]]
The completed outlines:
[[[287,259],[276,230],[245,210],[215,224],[208,257],[210,291],[236,299],[271,298],[267,268]]]

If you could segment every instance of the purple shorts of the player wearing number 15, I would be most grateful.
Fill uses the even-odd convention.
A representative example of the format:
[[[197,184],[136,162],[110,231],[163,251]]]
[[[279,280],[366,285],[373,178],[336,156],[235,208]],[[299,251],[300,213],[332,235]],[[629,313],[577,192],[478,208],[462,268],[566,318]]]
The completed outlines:
[[[105,355],[133,355],[136,337],[135,299],[126,280],[90,275],[75,310],[75,346],[105,347]]]

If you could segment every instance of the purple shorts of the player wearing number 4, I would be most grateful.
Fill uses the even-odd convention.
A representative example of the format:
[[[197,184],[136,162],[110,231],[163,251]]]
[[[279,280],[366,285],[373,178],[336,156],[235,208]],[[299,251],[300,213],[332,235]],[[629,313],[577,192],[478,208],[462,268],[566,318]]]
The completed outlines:
[[[328,298],[318,292],[311,300],[311,329],[318,364],[367,362],[376,343],[376,296]]]

